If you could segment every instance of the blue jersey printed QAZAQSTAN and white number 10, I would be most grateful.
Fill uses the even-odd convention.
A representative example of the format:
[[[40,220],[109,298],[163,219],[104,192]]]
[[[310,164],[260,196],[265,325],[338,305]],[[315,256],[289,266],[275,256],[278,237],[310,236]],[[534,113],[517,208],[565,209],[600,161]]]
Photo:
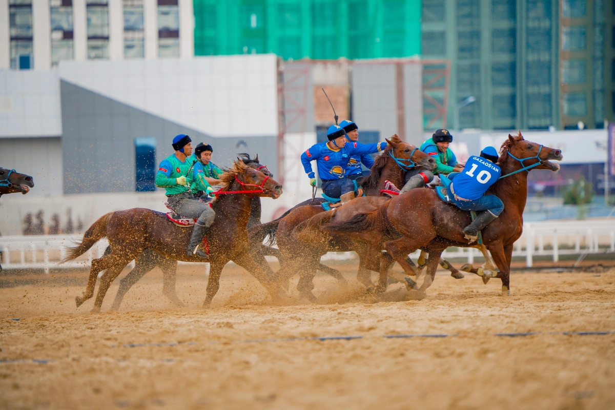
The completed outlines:
[[[463,199],[476,200],[498,181],[498,165],[482,157],[470,157],[463,171],[453,178],[453,191]]]

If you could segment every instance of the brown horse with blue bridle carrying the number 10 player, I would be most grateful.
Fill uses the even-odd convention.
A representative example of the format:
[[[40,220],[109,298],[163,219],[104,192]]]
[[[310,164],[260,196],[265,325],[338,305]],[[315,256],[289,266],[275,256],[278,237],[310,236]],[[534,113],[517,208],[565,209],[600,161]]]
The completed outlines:
[[[498,165],[501,179],[487,191],[504,202],[504,211],[498,219],[483,229],[483,243],[491,251],[499,268],[494,272],[472,270],[479,275],[499,277],[502,294],[510,294],[510,260],[515,241],[523,230],[523,209],[527,199],[527,176],[531,169],[557,171],[560,167],[549,162],[561,160],[561,151],[523,140],[519,133],[509,135],[501,146]],[[399,262],[407,274],[411,266],[405,255],[417,249],[429,252],[427,275],[419,293],[424,294],[431,285],[437,261],[447,246],[474,246],[464,239],[462,229],[470,224],[470,214],[438,199],[431,189],[413,189],[384,203],[375,211],[362,213],[346,221],[334,221],[323,227],[325,231],[349,239],[368,243],[368,258],[380,264],[379,290],[386,286],[386,272],[394,261]],[[386,253],[381,252],[386,250]],[[485,278],[483,277],[483,280]],[[485,281],[486,283],[486,281]]]

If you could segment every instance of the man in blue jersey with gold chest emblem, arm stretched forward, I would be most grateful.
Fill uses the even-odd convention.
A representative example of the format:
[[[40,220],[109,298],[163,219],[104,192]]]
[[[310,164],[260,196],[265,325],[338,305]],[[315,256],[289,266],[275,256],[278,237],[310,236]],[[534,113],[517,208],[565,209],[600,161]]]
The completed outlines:
[[[355,187],[352,179],[346,175],[346,165],[351,156],[371,154],[386,148],[386,142],[379,144],[346,144],[346,131],[339,125],[331,125],[327,130],[327,143],[312,145],[301,154],[303,169],[309,177],[311,186],[316,186],[316,178],[312,171],[311,161],[316,161],[322,191],[328,197],[339,198],[344,204],[355,198]]]

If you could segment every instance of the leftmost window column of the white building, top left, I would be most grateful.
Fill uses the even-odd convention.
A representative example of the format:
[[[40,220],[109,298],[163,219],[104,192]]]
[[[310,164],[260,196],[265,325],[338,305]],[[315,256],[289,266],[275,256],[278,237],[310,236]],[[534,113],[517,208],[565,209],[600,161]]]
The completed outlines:
[[[10,68],[33,68],[32,3],[9,1]]]

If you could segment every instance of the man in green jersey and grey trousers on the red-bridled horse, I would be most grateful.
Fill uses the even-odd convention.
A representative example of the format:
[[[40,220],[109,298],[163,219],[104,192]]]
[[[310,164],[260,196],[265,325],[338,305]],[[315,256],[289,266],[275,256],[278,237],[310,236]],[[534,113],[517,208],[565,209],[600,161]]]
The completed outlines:
[[[191,141],[190,137],[185,134],[173,138],[172,145],[175,154],[163,160],[158,167],[156,186],[166,189],[169,205],[175,212],[188,218],[197,219],[192,229],[192,236],[186,253],[188,255],[196,254],[199,258],[208,259],[207,254],[199,249],[199,245],[203,242],[209,227],[212,226],[216,213],[209,205],[194,199],[188,192],[192,178],[186,174],[189,174],[190,167],[196,165],[194,161],[191,162],[188,159],[188,156],[192,153]]]

